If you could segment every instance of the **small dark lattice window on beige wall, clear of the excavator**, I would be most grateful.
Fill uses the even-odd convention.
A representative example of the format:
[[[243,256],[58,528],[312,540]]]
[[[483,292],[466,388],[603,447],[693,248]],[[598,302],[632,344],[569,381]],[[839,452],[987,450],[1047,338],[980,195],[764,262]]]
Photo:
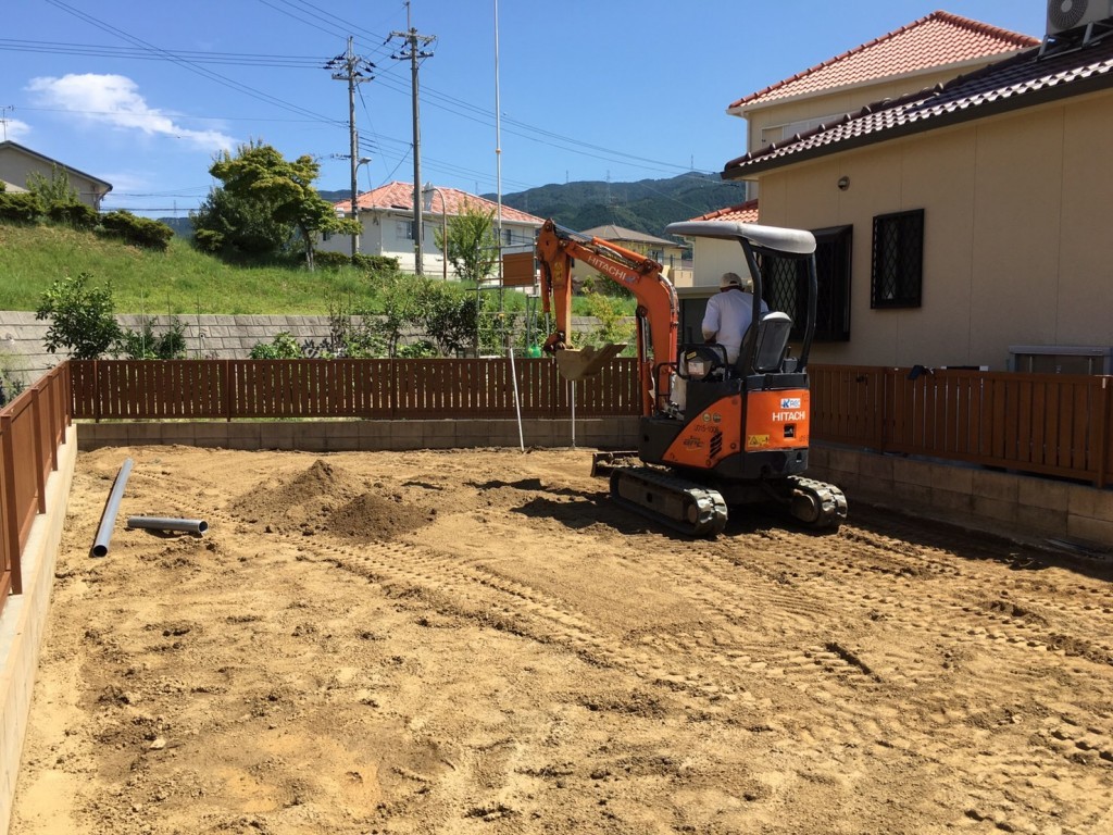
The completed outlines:
[[[874,218],[869,306],[919,307],[924,279],[924,209]]]

